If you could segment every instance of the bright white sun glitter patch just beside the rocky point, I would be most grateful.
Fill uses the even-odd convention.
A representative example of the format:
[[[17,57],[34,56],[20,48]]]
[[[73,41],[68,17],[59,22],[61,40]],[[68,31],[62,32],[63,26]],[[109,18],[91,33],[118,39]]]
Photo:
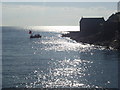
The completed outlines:
[[[59,36],[59,34],[58,34]],[[80,51],[80,52],[85,52],[85,51],[91,51],[91,49],[105,49],[104,47],[100,46],[94,46],[90,44],[83,44],[83,43],[77,43],[74,40],[71,40],[70,38],[62,38],[58,36],[52,36],[52,37],[45,37],[46,40],[42,41],[36,41],[34,42],[35,44],[43,44],[45,47],[43,47],[43,50],[46,51]]]

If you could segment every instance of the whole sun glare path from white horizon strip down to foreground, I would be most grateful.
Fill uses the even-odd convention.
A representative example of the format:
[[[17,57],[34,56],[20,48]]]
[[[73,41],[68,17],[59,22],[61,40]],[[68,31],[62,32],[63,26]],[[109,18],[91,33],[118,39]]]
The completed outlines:
[[[89,71],[94,61],[86,57],[92,57],[94,50],[104,48],[61,37],[61,32],[79,31],[79,26],[30,26],[27,30],[43,34],[41,39],[31,39],[31,50],[34,56],[39,57],[38,63],[44,63],[45,68],[38,65],[38,68],[24,77],[28,80],[26,88],[98,87],[89,83]]]

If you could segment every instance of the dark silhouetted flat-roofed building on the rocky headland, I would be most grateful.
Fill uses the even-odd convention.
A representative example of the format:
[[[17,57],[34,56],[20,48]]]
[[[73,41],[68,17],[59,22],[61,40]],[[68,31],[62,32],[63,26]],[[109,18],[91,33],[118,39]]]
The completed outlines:
[[[104,18],[81,18],[80,32],[84,35],[97,33],[105,22]]]

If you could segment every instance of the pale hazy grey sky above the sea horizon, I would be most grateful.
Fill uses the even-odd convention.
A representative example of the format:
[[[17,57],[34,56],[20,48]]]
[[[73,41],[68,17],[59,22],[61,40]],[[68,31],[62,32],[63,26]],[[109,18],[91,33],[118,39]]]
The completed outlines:
[[[83,17],[105,17],[116,12],[117,2],[3,2],[5,26],[77,26]]]

